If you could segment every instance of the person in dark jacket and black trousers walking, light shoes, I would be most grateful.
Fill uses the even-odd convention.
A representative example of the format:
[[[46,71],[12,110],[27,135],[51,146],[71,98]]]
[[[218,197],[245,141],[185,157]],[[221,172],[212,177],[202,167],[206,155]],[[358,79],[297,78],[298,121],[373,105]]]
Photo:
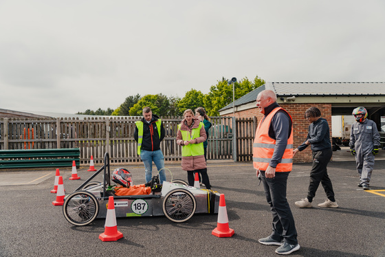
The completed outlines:
[[[299,208],[311,208],[311,202],[316,196],[316,191],[320,183],[325,189],[327,200],[318,204],[319,207],[338,208],[336,199],[334,198],[333,186],[329,175],[327,174],[327,164],[333,155],[330,143],[329,124],[327,120],[321,118],[321,111],[317,107],[310,107],[305,111],[305,119],[310,122],[309,132],[306,141],[298,148],[293,150],[293,156],[299,151],[304,150],[307,146],[311,146],[313,151],[313,166],[310,171],[310,183],[307,191],[307,198],[296,201]]]

